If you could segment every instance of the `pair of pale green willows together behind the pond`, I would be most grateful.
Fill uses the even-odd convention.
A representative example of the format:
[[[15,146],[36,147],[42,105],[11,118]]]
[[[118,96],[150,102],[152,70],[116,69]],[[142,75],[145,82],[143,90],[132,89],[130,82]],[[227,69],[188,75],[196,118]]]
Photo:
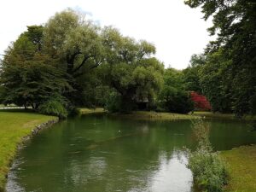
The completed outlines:
[[[154,100],[159,90],[163,66],[150,56],[155,53],[154,45],[123,37],[112,27],[101,29],[71,9],[49,19],[44,49],[58,58],[58,67],[70,77],[73,92],[65,96],[75,105],[105,105],[101,97],[113,88],[122,97],[123,107],[133,106],[140,100]],[[101,69],[92,71],[100,65]],[[104,74],[98,73],[101,70]]]

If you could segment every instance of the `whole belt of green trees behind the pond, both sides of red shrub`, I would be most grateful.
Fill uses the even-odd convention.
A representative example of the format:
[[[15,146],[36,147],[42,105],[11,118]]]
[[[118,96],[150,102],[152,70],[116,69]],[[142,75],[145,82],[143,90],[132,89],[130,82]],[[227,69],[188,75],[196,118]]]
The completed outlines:
[[[6,49],[0,61],[0,103],[60,117],[78,106],[188,113],[196,107],[190,97],[194,91],[207,96],[207,109],[214,112],[254,114],[255,2],[185,3],[201,7],[205,20],[212,16],[209,32],[218,35],[204,53],[191,57],[188,68],[165,69],[154,57],[154,44],[97,26],[67,9],[44,26],[27,26]]]

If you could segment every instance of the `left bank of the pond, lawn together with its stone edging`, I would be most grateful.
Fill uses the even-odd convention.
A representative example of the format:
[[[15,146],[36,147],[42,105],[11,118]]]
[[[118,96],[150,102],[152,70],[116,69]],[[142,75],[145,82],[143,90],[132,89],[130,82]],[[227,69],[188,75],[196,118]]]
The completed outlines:
[[[4,115],[8,115],[5,120],[10,122],[9,124],[2,125],[0,132],[2,131],[2,137],[0,137],[0,148],[2,148],[0,158],[0,192],[6,191],[6,183],[9,176],[9,169],[13,165],[15,157],[19,150],[24,148],[26,142],[32,137],[38,135],[41,131],[50,128],[55,123],[59,122],[59,118],[55,116],[47,116],[38,113],[32,113],[30,116],[28,113],[23,113],[23,116],[28,115],[26,118],[20,117],[20,119],[12,119],[13,113],[1,112]],[[1,114],[0,113],[0,114]],[[21,115],[20,115],[21,116]],[[0,116],[1,118],[1,116]],[[21,122],[20,122],[20,121]],[[17,122],[16,122],[17,121]]]

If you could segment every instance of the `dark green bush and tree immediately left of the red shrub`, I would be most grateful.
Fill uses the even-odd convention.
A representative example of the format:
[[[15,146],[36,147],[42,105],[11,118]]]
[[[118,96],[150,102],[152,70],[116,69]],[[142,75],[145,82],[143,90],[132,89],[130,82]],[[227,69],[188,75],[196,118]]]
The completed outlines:
[[[164,73],[164,86],[158,96],[158,107],[173,113],[189,113],[193,110],[193,102],[189,92],[184,88],[183,73],[173,68]]]

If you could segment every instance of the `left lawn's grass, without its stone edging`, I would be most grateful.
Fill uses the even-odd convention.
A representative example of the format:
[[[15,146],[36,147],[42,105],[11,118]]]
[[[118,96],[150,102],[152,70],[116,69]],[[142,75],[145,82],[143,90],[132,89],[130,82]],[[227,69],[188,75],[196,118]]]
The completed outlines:
[[[36,125],[51,119],[56,117],[38,113],[0,111],[0,191],[3,191],[5,176],[22,137],[31,134]]]

